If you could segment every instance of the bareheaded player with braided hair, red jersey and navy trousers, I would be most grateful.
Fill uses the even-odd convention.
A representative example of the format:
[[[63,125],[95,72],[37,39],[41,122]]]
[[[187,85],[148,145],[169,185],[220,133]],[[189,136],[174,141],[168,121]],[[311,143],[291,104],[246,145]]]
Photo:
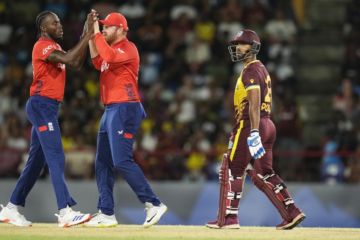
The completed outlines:
[[[34,186],[45,163],[48,164],[59,214],[59,227],[78,225],[91,219],[91,214],[73,211],[76,204],[65,182],[65,154],[59,127],[59,103],[64,96],[65,66],[79,70],[84,62],[87,43],[94,33],[96,12],[87,14],[80,41],[67,53],[57,41],[63,39],[58,16],[50,11],[37,15],[37,39],[33,48],[33,83],[26,103],[26,115],[32,124],[29,158],[10,196],[9,203],[0,211],[0,221],[15,226],[32,226],[17,206],[25,207],[28,193]],[[2,205],[1,205],[2,206]]]

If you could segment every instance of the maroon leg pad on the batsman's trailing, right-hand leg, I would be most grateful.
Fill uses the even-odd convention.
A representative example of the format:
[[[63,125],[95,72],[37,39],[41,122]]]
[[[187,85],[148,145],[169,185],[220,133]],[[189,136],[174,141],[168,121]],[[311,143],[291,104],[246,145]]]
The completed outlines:
[[[267,198],[271,201],[272,204],[274,204],[275,208],[278,209],[280,216],[285,219],[287,222],[292,221],[292,217],[290,216],[288,209],[284,205],[282,201],[279,200],[279,198],[274,193],[273,189],[271,189],[257,174],[254,172],[253,169],[247,169],[247,174],[251,178],[251,181],[253,184],[260,189]],[[219,225],[220,226],[220,225]]]

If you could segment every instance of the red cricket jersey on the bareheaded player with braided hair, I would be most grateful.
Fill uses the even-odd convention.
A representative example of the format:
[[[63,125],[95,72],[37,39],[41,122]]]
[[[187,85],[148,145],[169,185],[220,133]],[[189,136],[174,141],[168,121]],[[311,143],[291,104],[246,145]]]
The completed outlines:
[[[59,44],[45,37],[35,43],[32,50],[33,82],[30,96],[39,95],[61,101],[65,88],[65,64],[49,62],[52,51],[63,51]]]

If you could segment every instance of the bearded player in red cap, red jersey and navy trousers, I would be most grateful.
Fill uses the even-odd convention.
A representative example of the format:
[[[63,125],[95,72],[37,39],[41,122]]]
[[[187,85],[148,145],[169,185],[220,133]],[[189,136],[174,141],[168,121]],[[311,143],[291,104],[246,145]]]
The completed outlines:
[[[103,34],[99,30],[103,25]],[[117,224],[114,216],[113,189],[115,171],[122,175],[141,203],[147,216],[143,226],[150,227],[159,221],[167,207],[153,193],[143,171],[132,158],[135,135],[145,112],[138,94],[139,53],[126,38],[127,22],[120,13],[109,14],[104,21],[94,23],[94,40],[89,41],[90,54],[96,69],[100,70],[101,100],[105,112],[99,124],[95,158],[96,183],[99,189],[98,209],[111,221],[101,226]],[[101,215],[106,217],[105,215]],[[99,215],[100,216],[100,215]],[[93,221],[85,227],[98,227]]]

